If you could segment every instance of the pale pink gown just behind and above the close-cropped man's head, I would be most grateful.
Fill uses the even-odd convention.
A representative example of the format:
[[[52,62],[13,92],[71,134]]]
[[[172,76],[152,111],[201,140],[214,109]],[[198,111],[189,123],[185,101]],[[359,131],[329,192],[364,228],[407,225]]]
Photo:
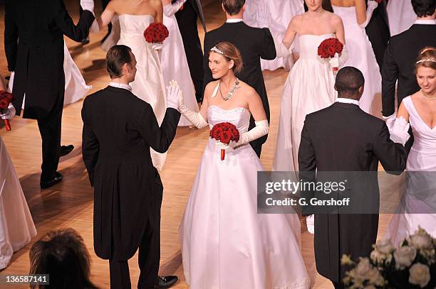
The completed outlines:
[[[360,28],[354,6],[333,6],[333,11],[342,18],[343,27],[345,28],[348,59],[343,66],[356,67],[365,77],[365,89],[359,101],[360,109],[381,116],[380,69],[377,60],[375,60],[373,46],[365,33],[365,28]]]

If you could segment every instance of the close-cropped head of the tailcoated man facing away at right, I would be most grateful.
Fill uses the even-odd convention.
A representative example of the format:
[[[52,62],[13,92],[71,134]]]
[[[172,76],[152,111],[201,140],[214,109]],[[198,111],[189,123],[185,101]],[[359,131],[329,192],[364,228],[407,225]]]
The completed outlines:
[[[362,72],[355,67],[346,66],[341,68],[336,75],[336,89],[341,95],[354,95],[359,87],[363,87],[365,78]]]

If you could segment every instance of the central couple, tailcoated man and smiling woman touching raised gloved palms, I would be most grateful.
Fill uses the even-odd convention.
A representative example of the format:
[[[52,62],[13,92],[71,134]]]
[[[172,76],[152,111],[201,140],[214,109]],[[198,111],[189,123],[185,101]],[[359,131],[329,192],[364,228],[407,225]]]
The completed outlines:
[[[192,187],[180,225],[190,288],[309,288],[297,215],[257,214],[255,180],[264,168],[249,141],[268,133],[268,122],[259,95],[235,76],[242,68],[239,50],[225,42],[210,50],[217,81],[207,85],[200,112],[187,109],[171,82],[160,126],[150,104],[131,92],[136,60],[130,48],[115,45],[107,62],[112,82],[85,99],[82,117],[83,160],[95,192],[94,247],[110,260],[111,288],[130,288],[128,259],[138,247],[138,288],[177,281],[157,276],[163,187],[149,152],[167,151],[180,113],[198,128],[228,121],[240,133],[239,142],[229,145],[209,139]],[[229,89],[220,89],[222,83]],[[248,131],[251,114],[256,126]]]

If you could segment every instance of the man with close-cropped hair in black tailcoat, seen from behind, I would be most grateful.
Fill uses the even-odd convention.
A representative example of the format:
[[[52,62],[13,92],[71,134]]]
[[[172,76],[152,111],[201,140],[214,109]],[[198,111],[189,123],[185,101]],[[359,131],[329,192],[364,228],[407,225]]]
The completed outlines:
[[[346,190],[336,192],[338,200],[342,195],[351,198],[352,207],[341,211],[331,212],[335,207],[302,209],[305,216],[315,213],[316,270],[330,279],[335,288],[343,288],[346,268],[341,266],[341,256],[369,257],[375,244],[380,194],[378,162],[386,171],[399,174],[405,170],[407,159],[403,146],[406,137],[401,143],[394,143],[385,122],[359,108],[364,82],[362,72],[355,67],[339,70],[335,84],[338,99],[330,107],[308,114],[301,132],[302,182],[327,185],[332,180],[342,180]],[[408,136],[407,131],[403,135]],[[327,193],[301,192],[306,202],[312,197],[335,196]]]

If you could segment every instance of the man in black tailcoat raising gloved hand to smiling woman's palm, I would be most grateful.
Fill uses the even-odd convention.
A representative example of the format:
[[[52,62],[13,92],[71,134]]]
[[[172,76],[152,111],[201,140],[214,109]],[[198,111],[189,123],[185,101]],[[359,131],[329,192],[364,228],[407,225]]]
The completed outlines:
[[[177,277],[157,275],[163,187],[150,148],[165,153],[175,137],[180,87],[167,87],[167,111],[159,126],[150,104],[131,92],[132,50],[115,45],[106,62],[112,81],[86,97],[82,109],[83,161],[94,187],[94,250],[109,259],[110,288],[131,288],[128,259],[138,247],[137,288],[170,288]]]

